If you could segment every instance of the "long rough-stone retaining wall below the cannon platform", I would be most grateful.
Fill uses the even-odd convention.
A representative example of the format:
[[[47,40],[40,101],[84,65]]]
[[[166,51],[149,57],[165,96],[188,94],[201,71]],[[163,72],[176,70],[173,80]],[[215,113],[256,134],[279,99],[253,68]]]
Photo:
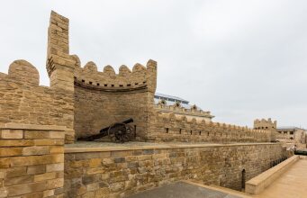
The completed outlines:
[[[241,190],[243,169],[248,180],[284,151],[279,143],[66,148],[65,197],[121,197],[181,179]]]

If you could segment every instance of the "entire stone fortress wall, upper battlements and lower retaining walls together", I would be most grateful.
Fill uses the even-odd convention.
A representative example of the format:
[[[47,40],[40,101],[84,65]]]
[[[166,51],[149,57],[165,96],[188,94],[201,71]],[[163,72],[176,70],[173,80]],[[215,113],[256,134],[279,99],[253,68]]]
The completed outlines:
[[[7,75],[0,73],[0,197],[86,197],[93,192],[101,197],[98,191],[118,195],[184,178],[238,189],[242,169],[254,176],[284,157],[280,144],[268,143],[271,130],[159,114],[153,103],[155,61],[146,67],[137,64],[132,71],[121,67],[119,74],[112,67],[99,72],[93,62],[80,67],[77,56],[69,55],[68,43],[68,19],[51,12],[50,87],[39,85],[37,69],[25,60],[14,61]],[[246,143],[139,151],[64,149],[64,141],[74,143],[129,117],[143,141]]]

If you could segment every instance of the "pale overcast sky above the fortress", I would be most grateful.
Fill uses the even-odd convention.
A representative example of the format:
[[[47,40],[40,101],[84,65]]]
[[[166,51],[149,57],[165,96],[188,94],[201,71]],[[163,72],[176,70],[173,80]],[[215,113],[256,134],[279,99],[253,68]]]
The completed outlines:
[[[15,59],[45,69],[50,11],[70,20],[70,54],[99,70],[158,61],[159,93],[214,121],[307,127],[307,1],[2,1],[0,72]]]

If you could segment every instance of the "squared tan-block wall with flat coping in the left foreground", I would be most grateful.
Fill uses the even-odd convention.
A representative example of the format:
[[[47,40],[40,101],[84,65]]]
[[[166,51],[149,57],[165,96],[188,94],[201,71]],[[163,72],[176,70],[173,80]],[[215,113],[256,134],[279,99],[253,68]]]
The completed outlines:
[[[66,127],[0,124],[0,197],[63,197]]]

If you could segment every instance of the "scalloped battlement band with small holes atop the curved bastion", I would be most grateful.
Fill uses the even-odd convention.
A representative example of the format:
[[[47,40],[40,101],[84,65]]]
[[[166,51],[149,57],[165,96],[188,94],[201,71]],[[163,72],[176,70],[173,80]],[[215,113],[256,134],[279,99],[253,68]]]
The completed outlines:
[[[105,66],[103,71],[99,71],[94,62],[87,62],[81,67],[77,55],[72,58],[76,60],[74,70],[75,85],[89,89],[107,92],[125,92],[133,90],[148,89],[156,90],[157,84],[157,62],[149,59],[146,67],[137,63],[132,70],[122,65],[116,73],[111,66]]]

